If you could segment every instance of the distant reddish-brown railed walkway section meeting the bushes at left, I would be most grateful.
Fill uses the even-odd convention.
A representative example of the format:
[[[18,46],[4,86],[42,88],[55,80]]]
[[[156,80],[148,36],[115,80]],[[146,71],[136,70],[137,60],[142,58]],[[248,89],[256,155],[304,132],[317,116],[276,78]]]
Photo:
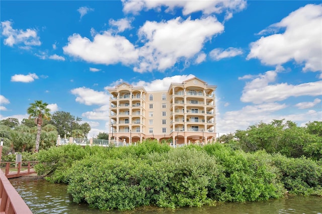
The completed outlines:
[[[1,166],[6,164],[5,176],[7,178],[15,178],[36,173],[33,168],[36,163],[38,161],[1,162]]]

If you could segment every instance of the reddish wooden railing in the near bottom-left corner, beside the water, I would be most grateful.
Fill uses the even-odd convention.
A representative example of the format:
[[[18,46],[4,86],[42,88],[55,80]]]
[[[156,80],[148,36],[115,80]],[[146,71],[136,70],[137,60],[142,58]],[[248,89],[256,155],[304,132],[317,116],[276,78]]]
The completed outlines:
[[[0,170],[0,213],[32,214],[32,211],[11,185],[2,170]]]

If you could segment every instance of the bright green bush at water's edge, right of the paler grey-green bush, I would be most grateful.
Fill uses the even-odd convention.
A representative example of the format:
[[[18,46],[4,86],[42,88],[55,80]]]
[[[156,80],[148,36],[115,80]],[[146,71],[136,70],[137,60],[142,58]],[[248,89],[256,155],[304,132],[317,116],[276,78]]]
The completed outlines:
[[[212,183],[211,197],[218,201],[255,201],[282,196],[283,185],[277,168],[270,165],[266,152],[246,154],[221,144],[204,147],[223,166],[219,182]]]

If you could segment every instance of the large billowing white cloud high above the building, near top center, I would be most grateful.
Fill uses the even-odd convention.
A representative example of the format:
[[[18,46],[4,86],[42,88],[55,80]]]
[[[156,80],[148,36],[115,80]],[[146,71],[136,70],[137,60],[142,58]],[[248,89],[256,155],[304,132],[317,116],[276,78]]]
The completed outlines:
[[[215,17],[196,20],[178,17],[160,23],[147,21],[138,32],[145,44],[139,48],[139,64],[134,71],[163,71],[181,60],[191,59],[207,40],[223,30],[224,26]]]

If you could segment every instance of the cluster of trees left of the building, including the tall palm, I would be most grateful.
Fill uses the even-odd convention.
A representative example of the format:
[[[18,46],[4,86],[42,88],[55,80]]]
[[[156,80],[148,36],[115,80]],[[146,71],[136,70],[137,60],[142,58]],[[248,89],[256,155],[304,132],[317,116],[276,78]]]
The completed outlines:
[[[57,111],[50,114],[47,103],[35,100],[30,103],[21,123],[17,118],[0,121],[0,137],[4,139],[4,153],[35,151],[48,149],[56,145],[58,135],[61,137],[87,138],[91,130],[88,123],[80,123],[81,118],[68,112]]]

